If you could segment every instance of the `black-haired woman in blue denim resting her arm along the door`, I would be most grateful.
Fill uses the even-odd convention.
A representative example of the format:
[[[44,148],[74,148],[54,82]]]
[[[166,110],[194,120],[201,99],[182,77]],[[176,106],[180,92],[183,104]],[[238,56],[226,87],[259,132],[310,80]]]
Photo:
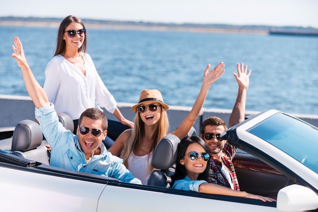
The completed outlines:
[[[264,202],[275,201],[269,197],[249,194],[245,191],[235,191],[230,188],[207,182],[209,168],[209,148],[200,137],[193,135],[185,137],[178,145],[176,172],[172,179],[172,188],[186,191],[196,191],[207,194],[218,194],[260,199]]]

